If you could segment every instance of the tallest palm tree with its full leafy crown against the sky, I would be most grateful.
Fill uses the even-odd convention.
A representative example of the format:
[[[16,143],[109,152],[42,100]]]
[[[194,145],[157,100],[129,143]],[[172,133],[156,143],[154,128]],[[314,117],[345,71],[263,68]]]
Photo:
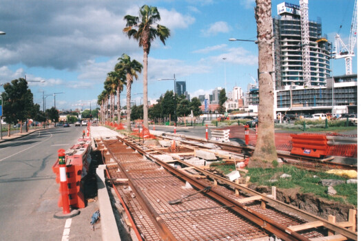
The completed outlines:
[[[144,5],[139,9],[139,17],[126,15],[124,17],[127,21],[123,32],[129,38],[134,38],[139,42],[139,47],[143,46],[143,125],[148,128],[148,54],[150,45],[154,39],[158,38],[165,45],[165,39],[170,36],[170,30],[156,23],[161,20],[161,15],[156,7]]]

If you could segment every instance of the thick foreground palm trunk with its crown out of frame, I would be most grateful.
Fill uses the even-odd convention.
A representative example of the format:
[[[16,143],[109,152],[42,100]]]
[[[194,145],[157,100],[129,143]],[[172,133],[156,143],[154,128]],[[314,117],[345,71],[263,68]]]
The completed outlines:
[[[259,98],[258,137],[248,167],[272,167],[277,160],[274,141],[274,58],[272,55],[271,0],[256,0],[258,36]]]

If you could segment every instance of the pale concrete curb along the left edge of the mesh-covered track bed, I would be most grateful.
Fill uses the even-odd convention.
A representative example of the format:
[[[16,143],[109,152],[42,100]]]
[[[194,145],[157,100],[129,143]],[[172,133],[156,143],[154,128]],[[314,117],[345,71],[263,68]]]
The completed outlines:
[[[105,185],[104,171],[106,165],[99,165],[96,168],[96,185],[98,186],[99,211],[101,213],[101,232],[103,241],[120,241],[118,227],[114,217],[109,193]]]

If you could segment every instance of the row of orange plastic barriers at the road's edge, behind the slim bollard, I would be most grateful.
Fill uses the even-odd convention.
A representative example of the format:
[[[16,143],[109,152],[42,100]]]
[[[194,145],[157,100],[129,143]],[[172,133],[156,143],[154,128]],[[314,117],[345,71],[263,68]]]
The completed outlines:
[[[85,200],[83,194],[83,184],[81,179],[87,175],[90,157],[91,142],[90,138],[79,139],[79,143],[73,145],[65,151],[66,176],[68,183],[69,205],[74,208],[84,208]],[[56,174],[56,183],[60,183],[59,162],[52,166],[52,171]],[[59,197],[58,206],[63,207],[63,200]]]

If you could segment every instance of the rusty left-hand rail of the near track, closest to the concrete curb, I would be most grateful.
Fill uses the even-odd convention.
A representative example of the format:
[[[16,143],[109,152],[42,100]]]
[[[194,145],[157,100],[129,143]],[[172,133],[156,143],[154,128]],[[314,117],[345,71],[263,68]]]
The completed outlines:
[[[103,138],[101,138],[101,140],[103,140]],[[110,145],[106,145],[104,140],[103,140],[103,143],[104,143],[105,147],[107,147],[110,155],[114,158],[114,160],[118,160],[118,158],[116,158],[116,156],[113,154],[113,152],[109,148]],[[134,145],[130,145],[130,146],[134,147]],[[149,201],[144,196],[141,189],[139,189],[134,184],[134,180],[132,179],[132,177],[129,174],[127,174],[127,171],[124,169],[123,165],[121,165],[119,162],[117,162],[117,163],[118,163],[118,168],[121,169],[121,171],[122,171],[122,174],[124,174],[124,176],[128,179],[128,184],[132,188],[132,191],[134,191],[136,196],[139,197],[138,201],[141,202],[141,205],[144,208],[145,213],[147,213],[147,216],[149,216],[149,218],[152,220],[154,227],[156,227],[156,229],[158,230],[161,238],[163,240],[176,240],[176,237],[174,237],[174,235],[172,234],[172,231],[170,231],[168,229],[167,225],[165,224],[165,222],[163,221],[161,216],[158,215],[156,210],[149,203]]]

